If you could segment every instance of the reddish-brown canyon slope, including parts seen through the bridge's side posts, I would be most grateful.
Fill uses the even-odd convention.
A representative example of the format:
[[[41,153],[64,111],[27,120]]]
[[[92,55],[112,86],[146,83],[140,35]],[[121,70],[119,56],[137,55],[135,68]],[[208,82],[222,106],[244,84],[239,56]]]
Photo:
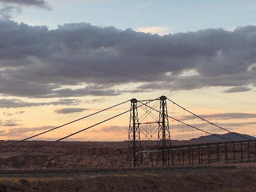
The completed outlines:
[[[14,145],[15,144],[15,145]],[[152,142],[152,146],[156,143]],[[253,143],[254,145],[254,143]],[[15,141],[0,141],[0,170],[9,169],[51,169],[51,168],[112,168],[112,167],[124,167],[131,165],[132,153],[128,152],[127,141],[123,142],[58,142],[51,143],[49,141],[24,141],[17,143]],[[239,152],[240,145],[236,146],[236,157],[241,157]],[[228,159],[233,159],[232,149],[228,148]],[[254,147],[251,147],[254,149]],[[245,148],[244,148],[245,150]],[[30,153],[29,153],[30,152]],[[173,163],[179,165],[184,163],[189,164],[189,150],[184,149],[174,151]],[[211,149],[211,163],[223,166],[227,165],[225,159],[225,148],[220,147],[220,162],[216,163],[216,147]],[[21,156],[22,154],[26,154]],[[130,154],[130,156],[129,156]],[[156,154],[154,154],[156,155]],[[194,150],[195,164],[198,164],[199,153]],[[202,148],[200,155],[200,163],[208,163],[209,153],[207,153],[207,147]],[[129,158],[128,158],[129,156]],[[152,155],[153,156],[153,155]],[[244,151],[244,158],[247,154]],[[252,150],[251,157],[255,157],[255,152]],[[156,158],[156,156],[154,156]],[[127,161],[129,159],[129,161]],[[153,159],[153,157],[152,157]],[[156,159],[154,163],[156,164]],[[146,161],[145,161],[146,162]],[[145,163],[144,162],[144,163]],[[148,156],[147,165],[150,166],[150,156]],[[128,164],[130,163],[130,164]],[[256,162],[246,164],[230,164],[237,167],[252,167],[256,168]]]

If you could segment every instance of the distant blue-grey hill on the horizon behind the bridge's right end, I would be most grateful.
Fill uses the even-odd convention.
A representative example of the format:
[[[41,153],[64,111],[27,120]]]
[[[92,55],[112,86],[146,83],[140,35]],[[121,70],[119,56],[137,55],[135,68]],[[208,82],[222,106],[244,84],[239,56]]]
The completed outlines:
[[[239,134],[239,133],[234,133],[234,132],[229,132],[227,134],[216,134],[220,137],[214,136],[214,135],[209,135],[209,136],[200,136],[199,138],[194,138],[188,141],[188,143],[215,143],[215,142],[224,142],[228,140],[233,140],[233,141],[240,141],[240,140],[247,140],[246,138],[250,140],[256,140],[255,137],[247,135],[247,134]],[[225,140],[225,139],[227,140]]]

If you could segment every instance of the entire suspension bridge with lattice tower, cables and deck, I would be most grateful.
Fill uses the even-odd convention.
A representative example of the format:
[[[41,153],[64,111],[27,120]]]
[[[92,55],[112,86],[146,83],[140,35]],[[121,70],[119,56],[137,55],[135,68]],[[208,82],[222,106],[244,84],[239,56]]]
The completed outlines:
[[[177,166],[191,168],[191,166],[204,166],[205,164],[214,164],[221,161],[225,163],[256,161],[256,140],[252,139],[252,137],[238,134],[237,132],[231,132],[213,122],[209,122],[209,120],[192,113],[165,96],[150,100],[126,100],[125,102],[83,116],[67,124],[40,132],[39,134],[35,134],[34,136],[20,141],[15,141],[10,145],[15,146],[23,141],[36,138],[36,136],[61,129],[61,127],[66,125],[73,124],[89,116],[97,115],[103,111],[108,111],[109,109],[127,103],[131,105],[126,111],[47,143],[47,145],[40,148],[24,152],[17,156],[17,158],[20,156],[28,156],[42,148],[50,147],[53,143],[58,143],[70,136],[74,136],[92,127],[113,120],[118,116],[122,116],[125,113],[129,113],[129,120],[127,120],[127,123],[129,122],[129,127],[127,127],[127,154],[124,156],[127,161],[127,167],[169,167],[169,169],[173,167],[174,169]],[[174,134],[173,130],[174,132],[179,132],[179,138],[181,135],[182,140],[184,140],[184,137],[186,137],[187,140],[196,138],[198,133],[201,133],[202,136],[211,136],[211,138],[214,139],[209,142],[181,143],[177,145],[177,143],[172,140]],[[234,137],[226,137],[225,134],[221,134],[221,131],[222,133],[234,135]],[[8,147],[10,147],[10,145]],[[89,171],[85,170],[84,172]],[[99,170],[97,170],[97,172],[99,172]],[[108,170],[106,170],[106,172],[108,172]],[[24,173],[24,171],[22,173]]]

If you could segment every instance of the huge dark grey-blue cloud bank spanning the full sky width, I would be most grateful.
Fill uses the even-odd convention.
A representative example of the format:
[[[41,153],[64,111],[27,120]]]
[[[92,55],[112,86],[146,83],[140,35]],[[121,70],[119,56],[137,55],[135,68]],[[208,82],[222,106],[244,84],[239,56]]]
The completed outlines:
[[[80,97],[209,86],[237,92],[256,85],[256,26],[159,36],[84,23],[49,30],[1,20],[0,42],[3,95]],[[143,84],[132,90],[115,88],[137,82]]]

